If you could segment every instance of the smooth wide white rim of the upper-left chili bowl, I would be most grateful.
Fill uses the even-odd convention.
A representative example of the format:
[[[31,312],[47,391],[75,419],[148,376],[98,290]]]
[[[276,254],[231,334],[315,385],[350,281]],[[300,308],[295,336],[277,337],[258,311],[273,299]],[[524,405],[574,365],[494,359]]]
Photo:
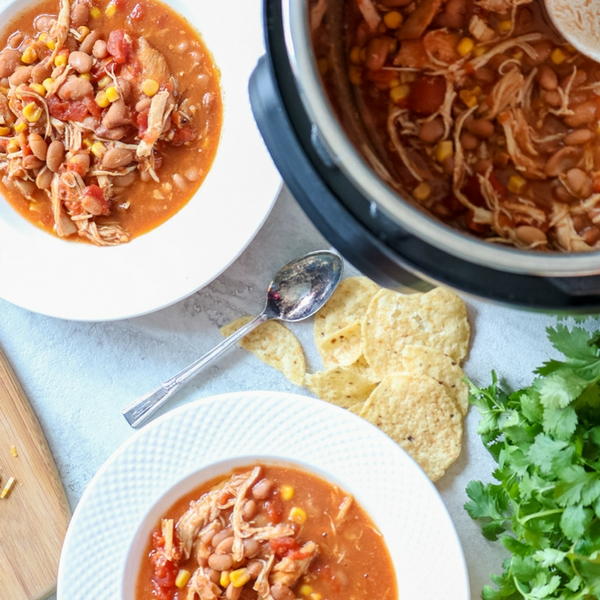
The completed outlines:
[[[0,23],[31,4],[35,0],[0,0]],[[85,321],[158,310],[220,275],[268,216],[280,178],[254,123],[247,89],[263,53],[262,3],[166,4],[201,33],[221,71],[223,132],[208,177],[166,223],[114,248],[55,238],[0,197],[0,298],[46,315]]]

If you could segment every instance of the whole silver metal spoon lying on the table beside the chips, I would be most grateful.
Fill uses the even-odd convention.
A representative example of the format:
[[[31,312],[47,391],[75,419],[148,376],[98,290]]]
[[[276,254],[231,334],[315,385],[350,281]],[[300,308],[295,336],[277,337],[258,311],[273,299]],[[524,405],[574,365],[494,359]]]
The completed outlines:
[[[342,259],[327,251],[311,252],[282,267],[267,289],[263,311],[202,358],[125,409],[122,414],[127,422],[132,427],[145,423],[208,363],[219,358],[261,323],[271,320],[295,323],[312,317],[337,288],[342,271]]]

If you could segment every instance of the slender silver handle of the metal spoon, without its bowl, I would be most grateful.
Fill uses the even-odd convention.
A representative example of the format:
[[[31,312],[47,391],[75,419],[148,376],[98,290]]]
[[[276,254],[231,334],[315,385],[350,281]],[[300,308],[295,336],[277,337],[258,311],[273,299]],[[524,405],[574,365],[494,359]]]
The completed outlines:
[[[249,323],[246,323],[246,325],[240,327],[212,350],[209,350],[204,356],[183,369],[183,371],[180,371],[177,375],[165,381],[156,390],[126,408],[122,413],[125,420],[134,428],[143,425],[161,406],[204,369],[208,363],[222,356],[243,337],[271,318],[265,311]]]

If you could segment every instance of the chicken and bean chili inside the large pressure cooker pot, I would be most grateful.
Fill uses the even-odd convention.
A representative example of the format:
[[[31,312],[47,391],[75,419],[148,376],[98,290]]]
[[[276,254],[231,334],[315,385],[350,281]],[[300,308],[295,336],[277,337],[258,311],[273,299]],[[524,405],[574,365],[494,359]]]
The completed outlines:
[[[542,0],[311,0],[310,19],[334,105],[342,69],[400,195],[489,242],[600,249],[600,64]]]

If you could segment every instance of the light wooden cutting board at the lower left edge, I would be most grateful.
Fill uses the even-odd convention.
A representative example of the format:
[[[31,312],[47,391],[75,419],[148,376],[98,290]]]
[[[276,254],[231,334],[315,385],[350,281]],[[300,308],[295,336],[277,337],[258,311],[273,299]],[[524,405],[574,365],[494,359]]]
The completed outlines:
[[[16,485],[0,499],[0,598],[40,600],[56,587],[70,510],[44,433],[0,350],[0,491],[10,477]]]

